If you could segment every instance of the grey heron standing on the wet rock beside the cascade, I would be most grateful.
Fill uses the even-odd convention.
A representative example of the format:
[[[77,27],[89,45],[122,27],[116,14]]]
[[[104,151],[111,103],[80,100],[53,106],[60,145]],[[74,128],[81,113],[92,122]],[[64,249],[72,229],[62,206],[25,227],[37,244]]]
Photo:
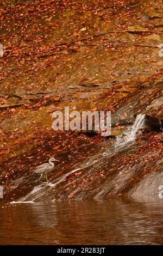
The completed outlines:
[[[51,172],[51,170],[54,169],[54,163],[53,163],[54,161],[59,162],[59,160],[55,159],[54,157],[51,157],[49,159],[49,163],[43,163],[34,170],[33,174],[40,174],[40,179],[39,179],[40,182],[43,174],[46,175],[46,179],[47,179],[48,172]]]

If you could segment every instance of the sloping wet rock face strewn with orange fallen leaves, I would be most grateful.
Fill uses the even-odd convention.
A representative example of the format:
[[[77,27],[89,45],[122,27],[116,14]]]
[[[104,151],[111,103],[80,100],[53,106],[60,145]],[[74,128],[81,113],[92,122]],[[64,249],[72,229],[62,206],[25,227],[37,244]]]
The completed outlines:
[[[5,199],[30,193],[38,185],[30,174],[52,155],[61,161],[50,175],[53,184],[89,159],[92,165],[61,178],[46,199],[127,196],[147,174],[159,175],[162,1],[3,2],[0,180]],[[54,132],[52,113],[65,106],[111,111],[111,135]],[[135,144],[115,152],[117,137],[139,114],[146,115],[148,126]],[[50,187],[44,185],[43,191]]]

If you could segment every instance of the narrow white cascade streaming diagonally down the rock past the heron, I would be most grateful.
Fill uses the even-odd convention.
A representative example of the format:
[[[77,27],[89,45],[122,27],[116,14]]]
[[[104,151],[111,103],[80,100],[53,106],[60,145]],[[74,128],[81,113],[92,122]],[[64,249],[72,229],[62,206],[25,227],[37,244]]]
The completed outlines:
[[[129,150],[130,147],[134,144],[137,134],[141,129],[143,129],[145,125],[145,115],[139,114],[137,115],[133,126],[129,127],[126,131],[123,132],[122,135],[117,136],[116,141],[110,146],[108,141],[102,143],[102,148],[99,152],[91,157],[87,157],[80,166],[77,167],[70,172],[60,176],[59,178],[55,179],[53,183],[43,183],[34,187],[34,189],[27,194],[27,196],[21,198],[20,202],[34,202],[37,200],[41,200],[44,198],[50,199],[49,194],[53,194],[54,190],[58,188],[58,185],[62,184],[62,182],[66,181],[66,178],[73,173],[78,172],[79,170],[83,172],[82,179],[87,178],[87,176],[91,176],[92,173],[95,173],[100,170],[108,169],[110,164],[115,161],[116,154],[123,154],[123,151]],[[121,173],[117,173],[118,180],[120,180]],[[125,176],[122,177],[124,180],[126,179]],[[79,179],[79,178],[78,178]],[[66,187],[69,186],[70,183],[65,185]],[[108,191],[109,185],[103,185],[102,188],[97,189],[97,193],[92,193],[93,197],[98,199],[101,198],[103,194]],[[78,192],[78,188],[74,189],[74,194]],[[100,190],[100,191],[99,191]],[[62,196],[64,198],[64,196]],[[81,198],[81,197],[80,197]],[[16,203],[16,202],[15,202]]]

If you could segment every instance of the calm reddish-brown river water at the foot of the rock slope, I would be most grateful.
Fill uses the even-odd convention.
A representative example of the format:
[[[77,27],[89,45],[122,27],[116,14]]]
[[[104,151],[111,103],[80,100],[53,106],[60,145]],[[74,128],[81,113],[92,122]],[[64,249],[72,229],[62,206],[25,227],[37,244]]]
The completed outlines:
[[[3,204],[1,245],[160,245],[163,199]]]

